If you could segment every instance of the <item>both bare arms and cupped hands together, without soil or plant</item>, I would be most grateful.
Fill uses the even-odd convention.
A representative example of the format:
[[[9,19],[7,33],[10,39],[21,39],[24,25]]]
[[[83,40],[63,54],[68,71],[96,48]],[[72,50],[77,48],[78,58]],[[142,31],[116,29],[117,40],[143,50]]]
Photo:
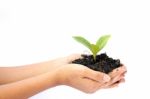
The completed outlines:
[[[36,64],[1,67],[0,99],[26,99],[58,85],[67,85],[86,93],[93,93],[98,89],[115,87],[124,81],[123,75],[126,72],[124,66],[107,75],[70,63],[79,57],[81,56],[74,54]]]

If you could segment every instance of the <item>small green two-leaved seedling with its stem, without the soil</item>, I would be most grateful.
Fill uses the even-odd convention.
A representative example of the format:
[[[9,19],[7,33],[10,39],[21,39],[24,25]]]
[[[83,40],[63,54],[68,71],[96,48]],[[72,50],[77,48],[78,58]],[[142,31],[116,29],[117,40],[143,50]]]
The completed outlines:
[[[92,44],[84,37],[73,36],[76,41],[86,46],[92,52],[94,60],[96,60],[97,53],[104,48],[110,37],[110,35],[103,35],[97,40],[96,44]]]

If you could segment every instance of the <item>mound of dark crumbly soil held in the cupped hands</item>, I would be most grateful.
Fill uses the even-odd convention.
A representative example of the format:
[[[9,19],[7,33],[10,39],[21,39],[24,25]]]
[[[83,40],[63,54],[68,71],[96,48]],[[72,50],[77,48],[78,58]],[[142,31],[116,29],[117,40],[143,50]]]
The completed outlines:
[[[92,55],[82,55],[83,58],[72,61],[75,64],[82,64],[95,71],[100,71],[108,74],[113,69],[122,66],[119,59],[108,57],[106,53],[96,56],[94,60]]]

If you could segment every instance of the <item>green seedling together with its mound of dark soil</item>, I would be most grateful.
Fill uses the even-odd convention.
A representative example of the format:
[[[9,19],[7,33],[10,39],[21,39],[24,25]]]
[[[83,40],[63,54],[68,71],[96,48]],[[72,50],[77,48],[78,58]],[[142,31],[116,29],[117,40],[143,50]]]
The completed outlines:
[[[122,66],[119,59],[113,59],[106,53],[97,55],[97,53],[101,51],[107,44],[110,35],[101,36],[95,44],[90,43],[88,40],[81,36],[74,36],[73,38],[86,46],[92,52],[91,55],[82,54],[82,58],[72,61],[73,64],[81,64],[92,70],[100,71],[106,74]]]

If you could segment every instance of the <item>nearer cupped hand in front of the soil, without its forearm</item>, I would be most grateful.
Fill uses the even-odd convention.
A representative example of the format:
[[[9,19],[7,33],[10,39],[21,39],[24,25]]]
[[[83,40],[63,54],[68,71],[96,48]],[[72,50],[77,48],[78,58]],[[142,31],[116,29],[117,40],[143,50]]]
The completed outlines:
[[[77,64],[67,64],[59,68],[57,79],[59,84],[68,85],[86,93],[93,93],[110,81],[107,74]]]

